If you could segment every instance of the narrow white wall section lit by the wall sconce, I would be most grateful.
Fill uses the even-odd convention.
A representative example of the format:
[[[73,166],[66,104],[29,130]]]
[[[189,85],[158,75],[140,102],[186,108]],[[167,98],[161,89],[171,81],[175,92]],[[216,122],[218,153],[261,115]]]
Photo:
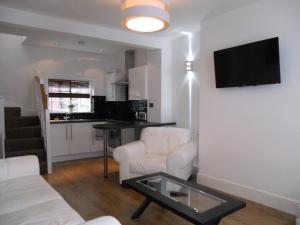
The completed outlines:
[[[172,112],[179,127],[190,129],[192,139],[198,141],[199,109],[199,33],[191,38],[183,35],[172,41]],[[190,52],[191,47],[191,52]],[[185,71],[185,61],[192,57],[194,72]]]

